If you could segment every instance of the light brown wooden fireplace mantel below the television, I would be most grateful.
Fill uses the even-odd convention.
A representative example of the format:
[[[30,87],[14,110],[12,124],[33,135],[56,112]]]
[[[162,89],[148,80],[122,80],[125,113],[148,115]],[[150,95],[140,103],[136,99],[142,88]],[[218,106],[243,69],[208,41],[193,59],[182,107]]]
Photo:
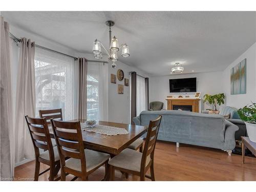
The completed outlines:
[[[167,110],[173,110],[173,105],[191,105],[192,111],[200,113],[201,98],[198,97],[183,97],[183,98],[174,98],[166,97],[167,100]]]

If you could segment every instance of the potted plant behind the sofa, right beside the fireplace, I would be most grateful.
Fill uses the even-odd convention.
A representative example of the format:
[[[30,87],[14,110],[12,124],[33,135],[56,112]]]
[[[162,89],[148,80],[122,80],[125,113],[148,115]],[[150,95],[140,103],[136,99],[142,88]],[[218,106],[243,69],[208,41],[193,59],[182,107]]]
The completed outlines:
[[[204,103],[207,102],[210,105],[212,105],[212,109],[209,109],[209,110],[212,110],[215,112],[219,112],[217,110],[217,104],[218,105],[224,104],[224,99],[225,99],[224,93],[219,93],[216,95],[209,95],[209,94],[204,95]],[[218,113],[216,113],[216,114],[218,114]]]

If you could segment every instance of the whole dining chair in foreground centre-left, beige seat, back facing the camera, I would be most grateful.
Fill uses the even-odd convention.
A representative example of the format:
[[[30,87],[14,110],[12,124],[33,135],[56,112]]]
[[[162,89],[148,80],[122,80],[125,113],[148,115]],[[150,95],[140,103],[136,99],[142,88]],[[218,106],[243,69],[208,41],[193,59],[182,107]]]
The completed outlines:
[[[83,181],[102,165],[105,165],[105,176],[108,176],[109,154],[84,149],[80,121],[65,122],[51,119],[53,133],[60,157],[61,181],[66,174],[80,177]],[[68,160],[65,158],[69,157]]]

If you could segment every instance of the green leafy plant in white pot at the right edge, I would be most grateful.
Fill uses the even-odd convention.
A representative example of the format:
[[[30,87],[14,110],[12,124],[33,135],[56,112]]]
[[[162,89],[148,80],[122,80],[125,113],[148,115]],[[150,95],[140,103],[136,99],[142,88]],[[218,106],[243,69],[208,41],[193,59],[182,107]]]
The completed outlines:
[[[246,105],[238,110],[238,115],[246,124],[249,139],[256,142],[256,103]]]

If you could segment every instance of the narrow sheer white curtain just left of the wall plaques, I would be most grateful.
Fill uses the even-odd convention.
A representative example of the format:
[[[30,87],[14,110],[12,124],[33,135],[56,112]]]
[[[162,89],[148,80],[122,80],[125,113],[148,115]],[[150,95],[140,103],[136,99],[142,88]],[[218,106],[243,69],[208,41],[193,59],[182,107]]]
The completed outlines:
[[[108,120],[108,65],[88,62],[87,119]]]

